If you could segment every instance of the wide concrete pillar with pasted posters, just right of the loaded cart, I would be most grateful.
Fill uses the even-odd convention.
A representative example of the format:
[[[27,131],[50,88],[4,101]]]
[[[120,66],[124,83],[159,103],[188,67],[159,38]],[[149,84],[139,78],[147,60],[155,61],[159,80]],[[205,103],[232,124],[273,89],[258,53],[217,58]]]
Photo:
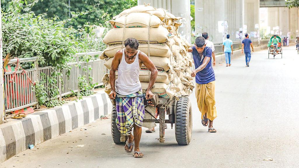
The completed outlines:
[[[239,0],[195,0],[195,32],[208,32],[210,40],[222,43],[226,34],[240,41],[236,33],[242,30],[243,2]]]

